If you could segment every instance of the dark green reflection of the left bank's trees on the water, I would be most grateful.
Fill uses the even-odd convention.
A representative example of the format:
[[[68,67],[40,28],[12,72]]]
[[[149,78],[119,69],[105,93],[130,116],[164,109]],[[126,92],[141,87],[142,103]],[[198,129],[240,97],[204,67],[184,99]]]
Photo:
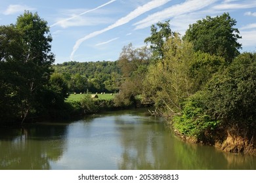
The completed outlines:
[[[65,125],[0,129],[0,169],[51,169],[65,147]]]

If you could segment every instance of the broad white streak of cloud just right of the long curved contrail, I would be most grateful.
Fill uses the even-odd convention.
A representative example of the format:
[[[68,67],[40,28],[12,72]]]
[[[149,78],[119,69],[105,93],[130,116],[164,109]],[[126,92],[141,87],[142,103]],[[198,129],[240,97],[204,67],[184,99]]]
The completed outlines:
[[[152,24],[156,24],[161,20],[166,20],[167,18],[171,18],[174,16],[180,16],[182,14],[186,14],[189,12],[194,12],[196,10],[200,10],[205,8],[217,0],[188,0],[179,5],[173,5],[172,7],[165,8],[160,12],[156,12],[154,14],[149,15],[147,18],[140,20],[139,22],[133,24],[136,25],[135,29],[144,29],[145,27],[149,27]]]

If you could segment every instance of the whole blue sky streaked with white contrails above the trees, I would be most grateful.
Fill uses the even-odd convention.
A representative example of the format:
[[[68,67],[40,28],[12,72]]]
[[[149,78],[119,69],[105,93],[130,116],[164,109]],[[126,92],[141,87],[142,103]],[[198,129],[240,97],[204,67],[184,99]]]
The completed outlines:
[[[229,12],[242,35],[242,52],[256,51],[255,0],[0,0],[0,24],[14,24],[24,10],[37,12],[53,36],[55,63],[115,61],[123,46],[144,46],[150,26],[171,20],[184,35],[189,24]]]

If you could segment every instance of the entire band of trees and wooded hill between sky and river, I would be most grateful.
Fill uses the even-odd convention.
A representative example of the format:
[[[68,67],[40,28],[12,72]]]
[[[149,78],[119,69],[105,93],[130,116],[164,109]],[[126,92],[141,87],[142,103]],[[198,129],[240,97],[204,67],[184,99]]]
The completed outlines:
[[[181,36],[158,22],[146,46],[123,46],[117,61],[54,65],[47,22],[26,11],[0,26],[1,124],[63,117],[96,108],[88,93],[118,93],[104,105],[152,105],[186,140],[255,154],[256,54],[240,53],[235,25],[228,13],[206,16]],[[87,94],[66,103],[74,92]]]

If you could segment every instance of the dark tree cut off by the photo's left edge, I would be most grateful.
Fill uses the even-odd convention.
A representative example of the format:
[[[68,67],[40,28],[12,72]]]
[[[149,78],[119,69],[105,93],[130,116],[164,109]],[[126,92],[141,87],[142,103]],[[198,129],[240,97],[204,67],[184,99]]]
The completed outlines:
[[[14,120],[19,109],[20,78],[16,64],[22,56],[22,37],[14,25],[0,26],[0,118],[1,122]]]

